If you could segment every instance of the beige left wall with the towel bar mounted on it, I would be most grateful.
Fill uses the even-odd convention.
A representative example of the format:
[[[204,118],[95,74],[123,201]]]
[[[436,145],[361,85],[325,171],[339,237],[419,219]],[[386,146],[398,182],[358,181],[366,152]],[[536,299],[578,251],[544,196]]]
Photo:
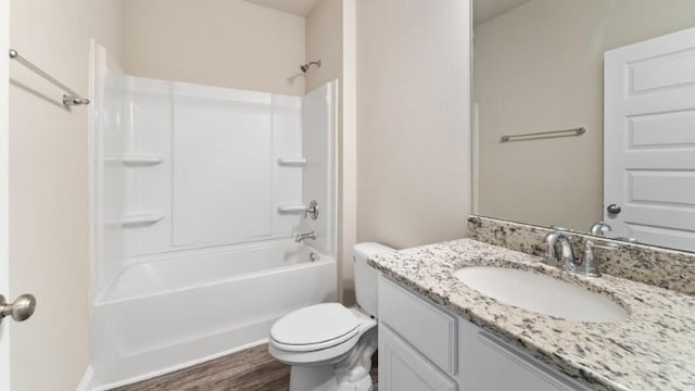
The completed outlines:
[[[89,39],[118,55],[117,0],[12,0],[11,47],[88,93]],[[10,67],[11,297],[38,299],[12,325],[12,390],[75,390],[89,363],[88,108]]]

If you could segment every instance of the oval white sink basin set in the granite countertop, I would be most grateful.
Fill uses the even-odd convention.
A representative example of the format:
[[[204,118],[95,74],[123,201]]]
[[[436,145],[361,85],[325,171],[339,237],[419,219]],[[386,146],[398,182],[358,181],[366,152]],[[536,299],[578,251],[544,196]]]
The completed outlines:
[[[456,278],[504,304],[577,321],[615,323],[628,312],[607,297],[553,277],[506,267],[472,266]]]

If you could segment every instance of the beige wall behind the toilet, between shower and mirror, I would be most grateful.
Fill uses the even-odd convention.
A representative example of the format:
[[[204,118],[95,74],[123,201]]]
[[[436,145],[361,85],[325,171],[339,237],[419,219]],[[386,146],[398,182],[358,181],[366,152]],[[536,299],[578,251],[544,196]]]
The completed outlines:
[[[357,239],[467,235],[470,21],[462,0],[357,3]]]

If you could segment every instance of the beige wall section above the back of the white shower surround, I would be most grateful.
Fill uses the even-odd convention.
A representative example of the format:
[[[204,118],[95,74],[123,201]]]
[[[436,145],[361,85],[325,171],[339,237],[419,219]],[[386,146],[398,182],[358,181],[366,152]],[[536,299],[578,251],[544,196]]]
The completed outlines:
[[[127,74],[304,94],[304,17],[243,0],[123,3]]]

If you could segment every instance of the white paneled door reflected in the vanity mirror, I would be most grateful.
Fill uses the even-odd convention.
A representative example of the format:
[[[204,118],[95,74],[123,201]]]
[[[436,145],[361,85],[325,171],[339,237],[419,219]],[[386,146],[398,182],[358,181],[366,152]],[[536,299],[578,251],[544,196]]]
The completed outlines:
[[[605,54],[604,217],[695,251],[695,28]]]

